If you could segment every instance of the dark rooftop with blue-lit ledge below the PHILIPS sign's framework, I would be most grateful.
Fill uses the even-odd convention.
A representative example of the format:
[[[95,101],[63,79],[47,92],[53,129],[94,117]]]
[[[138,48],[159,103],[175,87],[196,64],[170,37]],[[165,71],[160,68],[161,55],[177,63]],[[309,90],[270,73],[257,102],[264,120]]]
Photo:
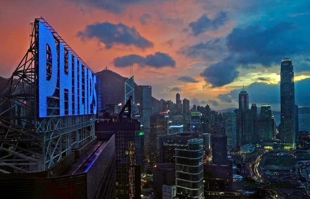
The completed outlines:
[[[114,198],[115,136],[93,140],[83,150],[49,171],[0,174],[1,198]]]

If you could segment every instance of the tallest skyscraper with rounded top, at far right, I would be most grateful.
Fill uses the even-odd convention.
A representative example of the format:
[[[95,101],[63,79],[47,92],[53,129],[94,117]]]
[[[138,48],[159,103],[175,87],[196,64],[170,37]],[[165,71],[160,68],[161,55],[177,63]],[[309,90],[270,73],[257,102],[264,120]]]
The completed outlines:
[[[284,149],[295,149],[295,121],[294,121],[294,70],[292,60],[283,58],[281,63],[281,83],[280,83],[280,101],[281,101],[281,119],[280,135],[284,144]]]

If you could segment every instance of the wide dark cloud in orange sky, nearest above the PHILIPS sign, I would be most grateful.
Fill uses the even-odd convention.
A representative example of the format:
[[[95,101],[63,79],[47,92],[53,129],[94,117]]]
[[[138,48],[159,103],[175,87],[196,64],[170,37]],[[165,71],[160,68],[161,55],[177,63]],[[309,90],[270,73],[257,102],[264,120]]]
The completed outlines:
[[[153,43],[140,35],[134,27],[123,23],[113,24],[109,22],[87,25],[77,36],[82,40],[97,38],[107,49],[114,45],[136,46],[140,49],[152,48]]]

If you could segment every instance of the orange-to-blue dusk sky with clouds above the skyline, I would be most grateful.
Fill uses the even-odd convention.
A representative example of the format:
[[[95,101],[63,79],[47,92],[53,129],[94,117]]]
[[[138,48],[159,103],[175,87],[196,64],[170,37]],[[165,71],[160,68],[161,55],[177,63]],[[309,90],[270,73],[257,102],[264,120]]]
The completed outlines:
[[[98,72],[108,66],[152,85],[157,99],[220,110],[250,103],[279,110],[280,65],[290,57],[295,103],[310,106],[309,0],[9,0],[0,2],[0,76],[29,48],[29,23],[45,18]],[[104,95],[104,94],[102,94]]]

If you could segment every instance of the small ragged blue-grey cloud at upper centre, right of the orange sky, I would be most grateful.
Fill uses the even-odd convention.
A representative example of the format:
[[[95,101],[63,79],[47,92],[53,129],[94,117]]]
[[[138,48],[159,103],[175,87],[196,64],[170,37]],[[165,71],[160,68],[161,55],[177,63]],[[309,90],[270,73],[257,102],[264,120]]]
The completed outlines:
[[[197,21],[191,22],[188,27],[192,30],[194,36],[197,36],[206,31],[218,30],[227,20],[227,12],[220,11],[214,19],[210,19],[207,14],[204,14]]]

